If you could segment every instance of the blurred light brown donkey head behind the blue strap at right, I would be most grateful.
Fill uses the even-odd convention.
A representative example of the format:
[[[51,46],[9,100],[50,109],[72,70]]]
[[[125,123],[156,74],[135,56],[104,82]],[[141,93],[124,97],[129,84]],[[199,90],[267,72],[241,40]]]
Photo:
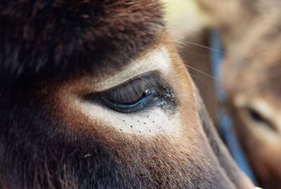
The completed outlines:
[[[226,19],[217,19],[226,47],[223,83],[232,104],[237,134],[261,184],[265,188],[279,188],[280,1],[233,1],[232,7],[228,5],[230,1],[221,3],[226,6],[216,13]],[[219,4],[208,7],[219,9]],[[226,16],[233,7],[239,8]]]

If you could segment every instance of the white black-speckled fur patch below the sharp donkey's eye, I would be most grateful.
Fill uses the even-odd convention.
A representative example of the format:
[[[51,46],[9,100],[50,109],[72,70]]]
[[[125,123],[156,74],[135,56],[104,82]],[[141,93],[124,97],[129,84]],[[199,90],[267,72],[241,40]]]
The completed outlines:
[[[133,114],[122,114],[89,101],[77,100],[76,105],[93,122],[103,122],[103,125],[119,132],[141,136],[177,136],[180,133],[177,127],[180,125],[179,114],[170,114],[162,107],[155,106]]]

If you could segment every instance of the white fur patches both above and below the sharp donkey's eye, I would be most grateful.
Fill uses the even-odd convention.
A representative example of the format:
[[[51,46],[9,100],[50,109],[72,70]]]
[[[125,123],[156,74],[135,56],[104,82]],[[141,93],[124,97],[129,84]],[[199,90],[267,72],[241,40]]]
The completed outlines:
[[[166,74],[170,64],[171,60],[167,49],[160,46],[144,56],[136,58],[129,66],[124,67],[124,70],[104,79],[103,82],[98,82],[95,86],[96,91],[110,89],[146,72],[157,71]],[[75,99],[75,106],[81,110],[82,114],[92,119],[93,122],[102,122],[105,126],[115,128],[119,132],[142,136],[176,136],[180,133],[178,128],[181,125],[180,119],[178,119],[179,114],[176,112],[170,113],[159,105],[148,109],[144,108],[132,114],[124,114],[103,105],[79,98]]]

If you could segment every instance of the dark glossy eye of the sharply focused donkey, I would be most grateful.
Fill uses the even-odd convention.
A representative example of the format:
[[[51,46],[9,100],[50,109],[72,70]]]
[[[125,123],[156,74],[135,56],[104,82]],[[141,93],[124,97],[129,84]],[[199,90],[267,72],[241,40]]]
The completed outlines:
[[[169,104],[174,101],[174,95],[159,74],[149,73],[102,93],[91,94],[88,99],[117,112],[131,113]]]

